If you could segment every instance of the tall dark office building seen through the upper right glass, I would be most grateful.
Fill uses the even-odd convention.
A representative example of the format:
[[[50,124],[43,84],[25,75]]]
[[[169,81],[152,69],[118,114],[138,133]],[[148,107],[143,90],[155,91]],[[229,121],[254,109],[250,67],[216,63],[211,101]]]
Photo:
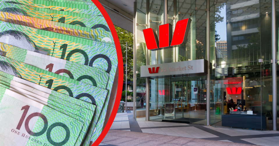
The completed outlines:
[[[248,62],[254,61],[255,58],[270,60],[269,44],[271,42],[266,40],[269,38],[271,31],[269,29],[271,26],[271,19],[267,12],[267,8],[269,8],[270,5],[267,4],[266,1],[263,2],[261,7],[266,10],[263,9],[262,12],[260,12],[261,9],[259,8],[259,4],[260,1],[257,0],[240,0],[226,3],[225,21],[227,23],[228,63],[237,63],[235,65],[239,65],[238,62],[247,62],[242,64],[246,66],[254,64]],[[260,27],[262,30],[265,30],[262,32],[262,35],[265,37],[262,37],[261,40]],[[262,41],[261,47],[260,41]],[[260,55],[261,50],[265,50],[262,56]],[[255,65],[257,65],[257,63],[255,63]]]

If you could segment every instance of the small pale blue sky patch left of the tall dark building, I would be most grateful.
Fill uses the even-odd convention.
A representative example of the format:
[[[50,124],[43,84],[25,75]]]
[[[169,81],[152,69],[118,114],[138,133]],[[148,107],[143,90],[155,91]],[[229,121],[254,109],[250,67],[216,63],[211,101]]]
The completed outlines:
[[[226,5],[221,9],[221,17],[224,17],[224,21],[216,24],[217,34],[220,35],[220,40],[227,40],[227,29],[226,29]]]

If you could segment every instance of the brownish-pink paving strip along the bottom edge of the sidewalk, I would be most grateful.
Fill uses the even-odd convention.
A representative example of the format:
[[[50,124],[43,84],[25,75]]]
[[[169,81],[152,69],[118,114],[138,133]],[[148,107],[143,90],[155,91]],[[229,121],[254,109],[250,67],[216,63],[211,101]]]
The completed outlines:
[[[252,146],[225,141],[185,138],[151,133],[109,130],[102,143],[117,146]]]

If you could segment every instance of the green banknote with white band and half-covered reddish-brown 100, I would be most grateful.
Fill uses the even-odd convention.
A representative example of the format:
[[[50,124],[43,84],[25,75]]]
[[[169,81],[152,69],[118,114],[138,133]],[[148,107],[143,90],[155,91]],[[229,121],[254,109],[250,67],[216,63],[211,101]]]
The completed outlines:
[[[47,56],[0,42],[0,55],[40,69],[48,70],[99,88],[106,88],[109,73],[105,70]]]

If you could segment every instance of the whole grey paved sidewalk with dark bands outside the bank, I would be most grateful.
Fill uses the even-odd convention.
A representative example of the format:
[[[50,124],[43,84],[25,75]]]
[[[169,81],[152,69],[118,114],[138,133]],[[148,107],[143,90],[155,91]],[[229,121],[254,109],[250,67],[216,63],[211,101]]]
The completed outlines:
[[[161,137],[164,137],[163,139],[170,138],[170,141],[163,140],[163,143],[161,143],[157,140],[161,139]],[[123,141],[121,142],[119,139]],[[185,140],[185,143],[177,140]],[[205,143],[204,140],[207,140],[209,144],[214,140],[215,145],[246,144],[278,146],[279,131],[216,128],[200,124],[173,122],[135,121],[133,113],[127,111],[127,113],[118,113],[116,115],[111,130],[101,145],[141,145],[142,143],[151,143],[152,141],[158,141],[154,142],[152,146],[168,145],[169,143],[171,145],[192,145],[193,142],[197,142],[196,145],[202,145]]]

